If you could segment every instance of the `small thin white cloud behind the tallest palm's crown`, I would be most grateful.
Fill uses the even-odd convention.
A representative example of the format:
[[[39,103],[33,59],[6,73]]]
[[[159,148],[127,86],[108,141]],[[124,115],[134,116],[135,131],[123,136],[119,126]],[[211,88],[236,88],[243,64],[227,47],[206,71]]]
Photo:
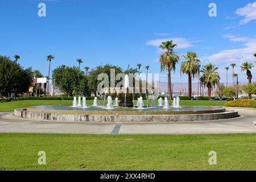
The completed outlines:
[[[166,42],[168,40],[172,40],[175,44],[177,44],[176,49],[184,49],[184,48],[189,48],[193,46],[191,42],[189,42],[187,39],[184,39],[184,38],[154,39],[154,40],[148,40],[146,44],[148,46],[159,47],[162,42]]]

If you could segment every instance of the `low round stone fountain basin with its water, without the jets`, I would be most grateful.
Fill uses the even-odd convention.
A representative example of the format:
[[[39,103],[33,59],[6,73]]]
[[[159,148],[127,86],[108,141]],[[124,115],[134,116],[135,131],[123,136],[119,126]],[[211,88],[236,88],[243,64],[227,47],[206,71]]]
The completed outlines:
[[[209,121],[238,117],[238,112],[223,107],[181,106],[170,107],[106,107],[88,108],[69,105],[34,106],[17,109],[14,114],[28,119],[46,119],[51,121],[84,121],[84,122],[183,122]]]

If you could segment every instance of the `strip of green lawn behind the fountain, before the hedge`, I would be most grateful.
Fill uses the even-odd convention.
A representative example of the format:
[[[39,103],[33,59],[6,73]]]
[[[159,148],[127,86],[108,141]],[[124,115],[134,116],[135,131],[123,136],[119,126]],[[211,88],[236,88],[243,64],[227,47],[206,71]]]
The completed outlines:
[[[31,101],[13,101],[0,103],[0,111],[13,111],[14,109],[26,108],[29,106],[43,105],[72,105],[73,101],[47,101],[47,100],[31,100]],[[86,101],[86,104],[92,105],[93,101]],[[136,101],[135,101],[136,103]],[[148,101],[151,104],[151,101]],[[180,101],[180,105],[184,106],[224,106],[226,101]],[[144,101],[146,104],[146,101]],[[157,104],[157,101],[156,101]],[[172,104],[172,101],[170,101]]]

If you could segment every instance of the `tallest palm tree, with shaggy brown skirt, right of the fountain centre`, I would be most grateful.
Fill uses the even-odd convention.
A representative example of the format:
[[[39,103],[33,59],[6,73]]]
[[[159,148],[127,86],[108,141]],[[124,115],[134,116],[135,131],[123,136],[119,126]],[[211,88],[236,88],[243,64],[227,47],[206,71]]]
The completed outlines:
[[[177,44],[174,44],[172,40],[167,42],[162,42],[159,48],[166,50],[162,55],[159,57],[160,62],[160,70],[161,72],[167,70],[168,71],[168,90],[169,90],[169,97],[172,100],[172,90],[171,90],[171,71],[175,71],[176,63],[179,61],[179,55],[174,52],[174,48]]]

